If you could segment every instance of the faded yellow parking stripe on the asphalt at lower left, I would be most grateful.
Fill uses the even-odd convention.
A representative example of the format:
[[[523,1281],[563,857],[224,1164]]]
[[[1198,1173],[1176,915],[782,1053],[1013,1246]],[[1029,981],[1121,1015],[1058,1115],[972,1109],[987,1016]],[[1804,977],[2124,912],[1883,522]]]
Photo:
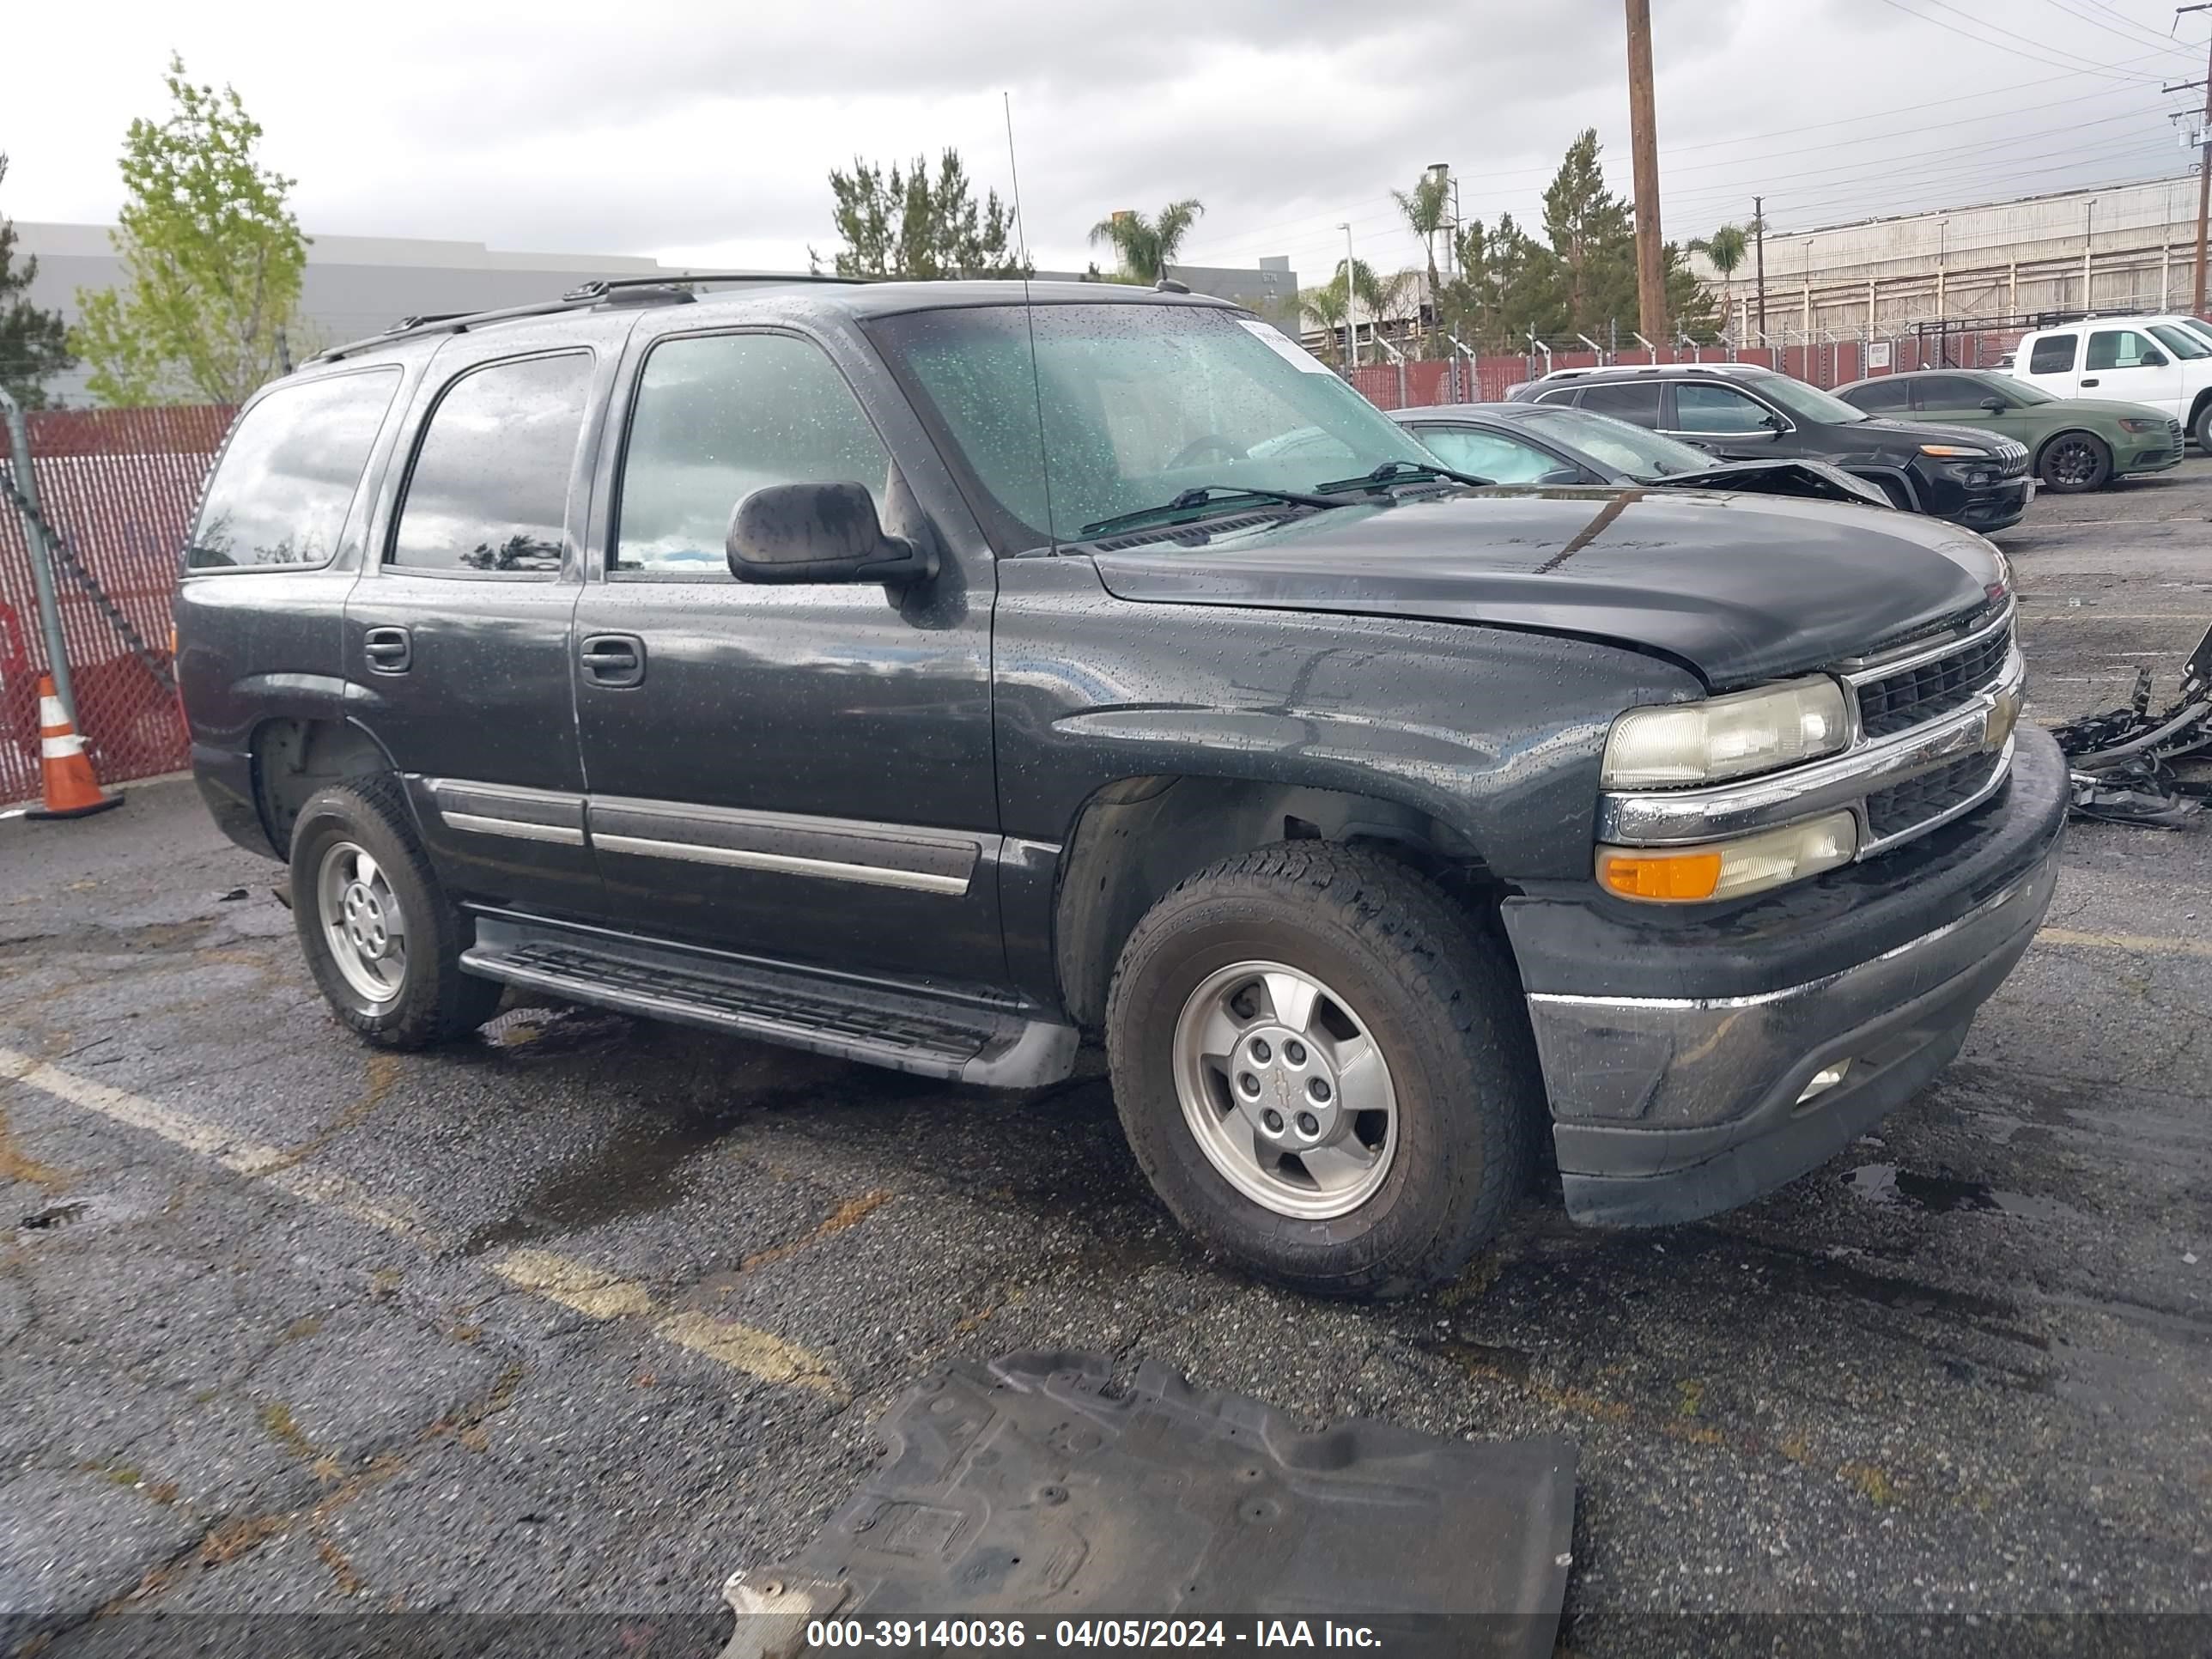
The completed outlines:
[[[51,1099],[146,1130],[170,1146],[212,1159],[232,1175],[274,1186],[294,1199],[336,1210],[376,1232],[405,1239],[425,1254],[449,1250],[449,1243],[416,1214],[374,1197],[358,1181],[305,1170],[283,1148],[246,1139],[219,1124],[179,1113],[175,1106],[77,1077],[15,1048],[0,1048],[0,1079],[24,1084]],[[664,1343],[761,1383],[849,1398],[836,1367],[821,1354],[734,1318],[699,1312],[659,1314],[650,1290],[604,1267],[551,1250],[509,1250],[484,1265],[509,1285],[586,1318],[648,1318],[653,1334]]]

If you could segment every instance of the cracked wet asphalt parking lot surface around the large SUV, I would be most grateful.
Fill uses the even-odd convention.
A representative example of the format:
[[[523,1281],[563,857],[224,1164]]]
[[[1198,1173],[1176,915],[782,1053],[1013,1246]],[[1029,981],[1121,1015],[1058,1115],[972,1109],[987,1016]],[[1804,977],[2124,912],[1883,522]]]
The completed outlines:
[[[2170,692],[2212,460],[2000,542],[2031,717],[2137,664]],[[1964,1057],[1818,1172],[1641,1234],[1533,1194],[1387,1307],[1208,1263],[1095,1066],[987,1095],[531,1006],[369,1051],[274,874],[188,783],[0,823],[0,1652],[144,1610],[712,1615],[916,1376],[1022,1347],[1575,1440],[1573,1652],[2212,1608],[2212,825],[2077,825]]]

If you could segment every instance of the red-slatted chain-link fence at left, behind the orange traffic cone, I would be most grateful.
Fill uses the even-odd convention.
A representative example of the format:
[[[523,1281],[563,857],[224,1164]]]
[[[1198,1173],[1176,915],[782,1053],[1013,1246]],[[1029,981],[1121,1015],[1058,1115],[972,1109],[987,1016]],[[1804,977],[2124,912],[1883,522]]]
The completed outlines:
[[[234,411],[40,409],[27,416],[31,471],[62,615],[62,641],[102,783],[188,761],[170,672],[170,604],[184,531]],[[49,672],[22,458],[0,429],[0,801],[40,790],[38,675]]]

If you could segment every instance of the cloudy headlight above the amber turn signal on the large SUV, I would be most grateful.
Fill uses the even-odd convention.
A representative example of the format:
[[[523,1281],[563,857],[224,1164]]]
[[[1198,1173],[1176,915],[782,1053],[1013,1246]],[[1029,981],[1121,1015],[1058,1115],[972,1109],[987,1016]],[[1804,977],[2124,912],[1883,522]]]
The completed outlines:
[[[1843,686],[1825,675],[1703,703],[1630,708],[1606,737],[1608,790],[1719,783],[1772,772],[1849,741]]]

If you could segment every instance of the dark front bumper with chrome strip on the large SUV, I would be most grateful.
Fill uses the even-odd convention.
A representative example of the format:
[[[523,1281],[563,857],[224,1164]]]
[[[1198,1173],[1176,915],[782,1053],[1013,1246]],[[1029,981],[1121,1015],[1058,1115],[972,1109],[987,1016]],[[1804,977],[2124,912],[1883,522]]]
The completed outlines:
[[[1834,1157],[1958,1053],[2057,885],[2066,761],[1898,849],[1721,920],[1513,898],[1568,1214],[1694,1221]],[[1818,1073],[1843,1082],[1805,1097]]]

